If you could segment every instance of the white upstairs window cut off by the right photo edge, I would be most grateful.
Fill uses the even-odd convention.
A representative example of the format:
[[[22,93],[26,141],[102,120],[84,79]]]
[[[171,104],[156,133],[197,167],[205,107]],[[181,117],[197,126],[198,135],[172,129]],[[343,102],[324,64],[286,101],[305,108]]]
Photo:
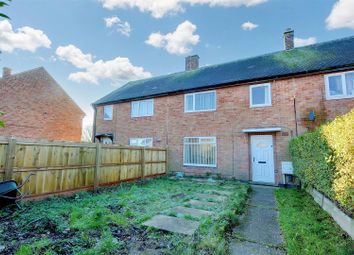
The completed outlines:
[[[327,99],[354,97],[354,72],[326,75],[325,84]]]

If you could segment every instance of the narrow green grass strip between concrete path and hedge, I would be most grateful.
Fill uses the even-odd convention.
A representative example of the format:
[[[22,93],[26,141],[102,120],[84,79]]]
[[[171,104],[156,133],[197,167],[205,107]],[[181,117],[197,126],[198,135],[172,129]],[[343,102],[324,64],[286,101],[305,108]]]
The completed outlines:
[[[289,255],[354,254],[353,240],[305,191],[276,191]]]

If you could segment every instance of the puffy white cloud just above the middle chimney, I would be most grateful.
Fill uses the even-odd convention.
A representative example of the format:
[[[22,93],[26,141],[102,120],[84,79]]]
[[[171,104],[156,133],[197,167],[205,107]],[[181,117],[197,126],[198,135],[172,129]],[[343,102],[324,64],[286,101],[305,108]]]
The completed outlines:
[[[194,34],[196,30],[197,26],[186,20],[179,24],[172,33],[165,35],[160,32],[150,34],[145,43],[155,48],[164,48],[171,54],[183,55],[191,51],[190,45],[199,43],[199,35]]]

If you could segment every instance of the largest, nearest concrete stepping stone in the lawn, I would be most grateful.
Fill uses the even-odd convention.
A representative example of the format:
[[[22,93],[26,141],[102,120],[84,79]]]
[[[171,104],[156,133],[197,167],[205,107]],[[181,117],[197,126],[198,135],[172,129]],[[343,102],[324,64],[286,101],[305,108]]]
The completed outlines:
[[[170,217],[166,215],[156,215],[150,220],[145,221],[143,225],[166,230],[169,232],[184,235],[193,235],[199,227],[199,222],[182,218]]]

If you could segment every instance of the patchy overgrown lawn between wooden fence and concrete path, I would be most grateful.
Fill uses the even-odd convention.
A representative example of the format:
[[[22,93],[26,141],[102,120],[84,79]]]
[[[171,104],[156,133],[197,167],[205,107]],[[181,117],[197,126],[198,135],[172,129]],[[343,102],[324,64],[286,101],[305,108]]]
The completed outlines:
[[[147,228],[142,222],[195,199],[198,193],[227,190],[233,194],[201,219],[193,236]],[[208,191],[209,190],[209,191]],[[159,178],[145,183],[82,192],[23,205],[12,215],[0,211],[1,254],[225,254],[227,233],[237,223],[248,186],[235,181],[214,185]],[[210,199],[208,199],[210,201]],[[180,215],[179,215],[180,216]],[[183,215],[191,219],[190,215]],[[143,254],[143,253],[142,253]]]

